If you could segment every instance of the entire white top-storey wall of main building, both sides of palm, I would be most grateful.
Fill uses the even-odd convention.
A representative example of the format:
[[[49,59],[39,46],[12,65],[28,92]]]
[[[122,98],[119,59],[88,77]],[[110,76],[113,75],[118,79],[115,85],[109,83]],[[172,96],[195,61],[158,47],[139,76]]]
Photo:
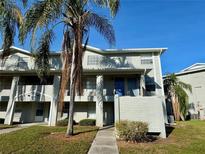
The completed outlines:
[[[109,53],[110,52],[110,53]],[[109,54],[108,54],[109,53]],[[84,72],[100,71],[135,71],[153,68],[152,53],[122,53],[112,54],[107,51],[102,54],[86,51],[83,57]],[[50,56],[51,70],[60,70],[62,66],[60,53]],[[31,53],[13,53],[4,63],[0,62],[2,71],[28,71],[35,70],[35,59]]]

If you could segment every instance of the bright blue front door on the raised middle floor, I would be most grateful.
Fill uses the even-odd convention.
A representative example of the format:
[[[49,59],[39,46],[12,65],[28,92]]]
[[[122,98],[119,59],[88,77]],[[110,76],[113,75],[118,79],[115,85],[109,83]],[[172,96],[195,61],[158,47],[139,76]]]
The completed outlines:
[[[125,95],[125,84],[123,78],[115,78],[115,93],[118,94],[118,96]]]

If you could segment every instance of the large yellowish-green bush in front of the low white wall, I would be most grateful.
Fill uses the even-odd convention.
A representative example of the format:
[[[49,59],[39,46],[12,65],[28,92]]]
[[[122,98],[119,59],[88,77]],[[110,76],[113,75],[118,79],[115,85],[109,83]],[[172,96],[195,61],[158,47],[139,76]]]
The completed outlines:
[[[115,124],[120,139],[143,142],[147,139],[148,124],[140,121],[123,120]]]

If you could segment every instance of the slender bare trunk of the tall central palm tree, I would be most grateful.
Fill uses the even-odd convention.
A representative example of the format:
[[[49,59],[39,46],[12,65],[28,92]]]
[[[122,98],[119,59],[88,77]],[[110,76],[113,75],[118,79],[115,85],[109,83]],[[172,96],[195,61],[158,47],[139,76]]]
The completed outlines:
[[[72,54],[72,64],[70,72],[70,104],[69,104],[69,117],[68,117],[68,128],[66,131],[66,136],[73,135],[73,114],[74,114],[74,101],[75,101],[75,52],[76,43],[73,44],[73,54]]]

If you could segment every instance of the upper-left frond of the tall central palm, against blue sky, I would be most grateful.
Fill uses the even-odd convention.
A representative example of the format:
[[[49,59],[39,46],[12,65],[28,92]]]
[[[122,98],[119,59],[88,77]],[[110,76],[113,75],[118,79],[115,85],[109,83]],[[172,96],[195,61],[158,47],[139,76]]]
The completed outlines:
[[[32,33],[32,38],[34,38],[37,28],[42,28],[59,18],[62,14],[62,4],[63,0],[45,0],[34,3],[26,12],[20,41],[23,42],[28,33]]]

